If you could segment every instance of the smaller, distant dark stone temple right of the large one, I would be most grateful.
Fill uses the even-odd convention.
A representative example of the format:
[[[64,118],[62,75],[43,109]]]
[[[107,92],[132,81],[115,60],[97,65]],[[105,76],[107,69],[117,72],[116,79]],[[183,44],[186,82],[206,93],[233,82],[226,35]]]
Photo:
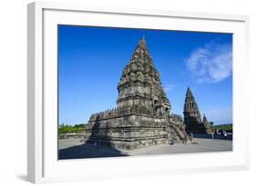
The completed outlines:
[[[210,124],[205,115],[201,120],[198,103],[188,87],[184,104],[184,123],[188,133],[210,133]]]

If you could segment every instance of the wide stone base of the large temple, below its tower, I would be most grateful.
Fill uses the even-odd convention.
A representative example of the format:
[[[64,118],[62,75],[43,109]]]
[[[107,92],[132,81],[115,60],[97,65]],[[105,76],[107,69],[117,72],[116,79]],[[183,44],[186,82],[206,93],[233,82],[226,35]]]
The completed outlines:
[[[185,128],[167,118],[129,114],[95,118],[86,126],[85,142],[118,150],[134,150],[168,142],[189,143]]]

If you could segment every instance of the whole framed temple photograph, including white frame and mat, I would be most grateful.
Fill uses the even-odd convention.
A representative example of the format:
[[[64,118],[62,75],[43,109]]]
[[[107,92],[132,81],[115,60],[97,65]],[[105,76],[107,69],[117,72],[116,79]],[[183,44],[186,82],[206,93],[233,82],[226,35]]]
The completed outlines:
[[[27,179],[249,167],[248,22],[28,5]]]

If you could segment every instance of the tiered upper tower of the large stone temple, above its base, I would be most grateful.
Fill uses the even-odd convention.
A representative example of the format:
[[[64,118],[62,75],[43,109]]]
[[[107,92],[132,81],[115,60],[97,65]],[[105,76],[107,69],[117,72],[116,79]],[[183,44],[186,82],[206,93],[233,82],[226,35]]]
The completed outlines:
[[[147,89],[144,84],[147,84]],[[128,89],[129,86],[132,88]],[[148,105],[163,106],[162,113],[170,111],[169,99],[161,86],[159,72],[149,56],[144,35],[138,41],[128,65],[123,70],[118,83],[118,93],[118,107],[140,104],[142,101],[140,102],[139,99],[145,99]]]

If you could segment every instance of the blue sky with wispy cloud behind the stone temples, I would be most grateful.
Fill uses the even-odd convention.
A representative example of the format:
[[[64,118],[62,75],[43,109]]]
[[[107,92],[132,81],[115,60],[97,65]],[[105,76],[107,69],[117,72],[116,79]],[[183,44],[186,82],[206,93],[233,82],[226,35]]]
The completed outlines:
[[[172,113],[182,114],[189,86],[209,121],[232,122],[232,34],[58,25],[59,123],[87,123],[116,107],[119,78],[143,35]]]

